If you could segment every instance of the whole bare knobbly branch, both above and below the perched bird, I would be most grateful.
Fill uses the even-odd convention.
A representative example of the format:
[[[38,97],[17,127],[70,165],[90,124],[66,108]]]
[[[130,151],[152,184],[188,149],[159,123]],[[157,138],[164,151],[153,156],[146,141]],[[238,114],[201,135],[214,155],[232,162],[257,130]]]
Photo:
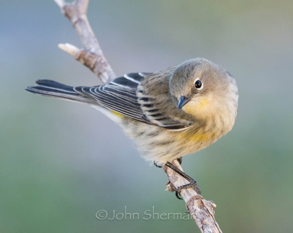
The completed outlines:
[[[109,83],[116,76],[104,57],[102,49],[89,25],[86,16],[89,0],[75,0],[72,3],[67,3],[63,0],[54,1],[60,7],[61,12],[73,24],[84,49],[78,49],[71,44],[59,44],[58,47],[71,56],[74,56],[75,59],[91,69],[104,84]],[[177,160],[172,161],[172,164],[183,171]],[[167,191],[172,192],[175,191],[177,187],[188,184],[186,179],[171,168],[164,166],[163,169],[169,178]],[[189,210],[189,213],[192,215],[201,232],[222,232],[214,218],[216,205],[212,201],[203,199],[203,197],[198,195],[192,188],[183,189],[181,191],[181,196],[186,203],[186,208]]]

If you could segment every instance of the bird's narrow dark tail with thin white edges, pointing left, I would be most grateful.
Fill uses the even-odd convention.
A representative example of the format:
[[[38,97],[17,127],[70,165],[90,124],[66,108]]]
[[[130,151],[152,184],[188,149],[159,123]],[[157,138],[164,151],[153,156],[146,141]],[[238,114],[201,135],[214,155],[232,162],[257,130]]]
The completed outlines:
[[[43,96],[49,96],[69,101],[83,102],[93,104],[94,102],[79,94],[74,90],[73,86],[67,86],[62,83],[48,79],[39,79],[36,81],[37,86],[28,86],[25,90]]]

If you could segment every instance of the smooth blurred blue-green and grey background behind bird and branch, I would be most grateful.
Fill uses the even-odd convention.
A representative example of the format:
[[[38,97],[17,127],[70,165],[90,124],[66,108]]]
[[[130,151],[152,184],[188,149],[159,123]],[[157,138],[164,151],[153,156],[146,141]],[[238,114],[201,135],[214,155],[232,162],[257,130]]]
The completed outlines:
[[[293,2],[90,1],[88,17],[118,76],[204,57],[239,88],[233,130],[183,168],[216,204],[223,232],[293,228]],[[98,85],[57,48],[81,47],[53,1],[0,2],[0,231],[200,232],[115,125],[82,104],[30,94],[36,79]],[[135,219],[127,213],[138,213]],[[106,219],[96,218],[105,210]],[[113,210],[116,217],[113,220]],[[149,211],[148,211],[149,210]],[[99,212],[105,217],[102,212]],[[164,215],[162,218],[165,218]]]

